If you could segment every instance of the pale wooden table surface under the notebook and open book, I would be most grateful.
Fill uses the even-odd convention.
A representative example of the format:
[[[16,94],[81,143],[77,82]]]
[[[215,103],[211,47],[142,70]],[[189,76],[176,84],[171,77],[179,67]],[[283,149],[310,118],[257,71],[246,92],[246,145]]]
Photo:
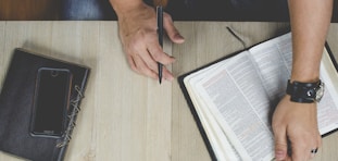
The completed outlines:
[[[288,23],[175,22],[186,38],[167,39],[175,76],[272,38]],[[116,22],[0,22],[0,85],[14,48],[26,48],[91,67],[77,125],[65,161],[205,161],[208,150],[175,79],[159,85],[134,73],[125,59]],[[338,25],[327,41],[338,58]],[[323,139],[314,160],[338,160],[338,133]],[[0,161],[22,160],[0,152]]]

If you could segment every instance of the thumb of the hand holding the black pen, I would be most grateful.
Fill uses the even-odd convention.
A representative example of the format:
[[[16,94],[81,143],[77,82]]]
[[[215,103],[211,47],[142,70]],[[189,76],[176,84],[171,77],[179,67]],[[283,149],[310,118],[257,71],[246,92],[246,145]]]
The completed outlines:
[[[166,30],[170,39],[175,44],[183,44],[185,41],[185,38],[178,33],[178,30],[174,26],[172,16],[164,12],[163,17],[163,27]]]

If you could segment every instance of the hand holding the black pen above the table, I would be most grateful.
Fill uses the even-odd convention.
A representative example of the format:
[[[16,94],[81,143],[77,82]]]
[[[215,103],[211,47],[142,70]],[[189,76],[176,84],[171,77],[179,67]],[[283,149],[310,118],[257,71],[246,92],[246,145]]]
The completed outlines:
[[[153,8],[142,3],[129,12],[118,13],[118,28],[124,52],[135,72],[157,79],[158,62],[168,65],[175,61],[159,44],[157,14]],[[184,42],[167,13],[163,13],[163,28],[173,42]],[[165,66],[163,78],[174,78]]]

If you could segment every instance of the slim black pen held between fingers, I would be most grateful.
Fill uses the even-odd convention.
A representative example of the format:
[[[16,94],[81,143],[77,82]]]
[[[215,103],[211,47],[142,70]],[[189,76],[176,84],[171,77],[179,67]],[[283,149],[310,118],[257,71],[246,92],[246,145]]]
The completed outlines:
[[[157,7],[157,16],[158,16],[158,36],[159,36],[159,44],[163,50],[163,8],[161,5]],[[163,64],[158,62],[159,69],[159,82],[162,83],[162,70]]]

